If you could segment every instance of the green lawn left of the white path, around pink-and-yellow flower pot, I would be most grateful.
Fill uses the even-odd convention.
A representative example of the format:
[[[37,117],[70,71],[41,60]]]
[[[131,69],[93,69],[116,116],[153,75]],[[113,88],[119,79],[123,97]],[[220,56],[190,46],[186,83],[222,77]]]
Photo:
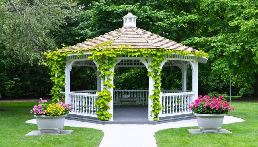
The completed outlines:
[[[38,147],[38,146],[89,146],[97,147],[104,136],[103,131],[92,128],[64,126],[64,130],[73,130],[68,135],[25,136],[38,130],[36,124],[26,123],[34,119],[30,110],[37,102],[5,102],[0,103],[0,146]]]

